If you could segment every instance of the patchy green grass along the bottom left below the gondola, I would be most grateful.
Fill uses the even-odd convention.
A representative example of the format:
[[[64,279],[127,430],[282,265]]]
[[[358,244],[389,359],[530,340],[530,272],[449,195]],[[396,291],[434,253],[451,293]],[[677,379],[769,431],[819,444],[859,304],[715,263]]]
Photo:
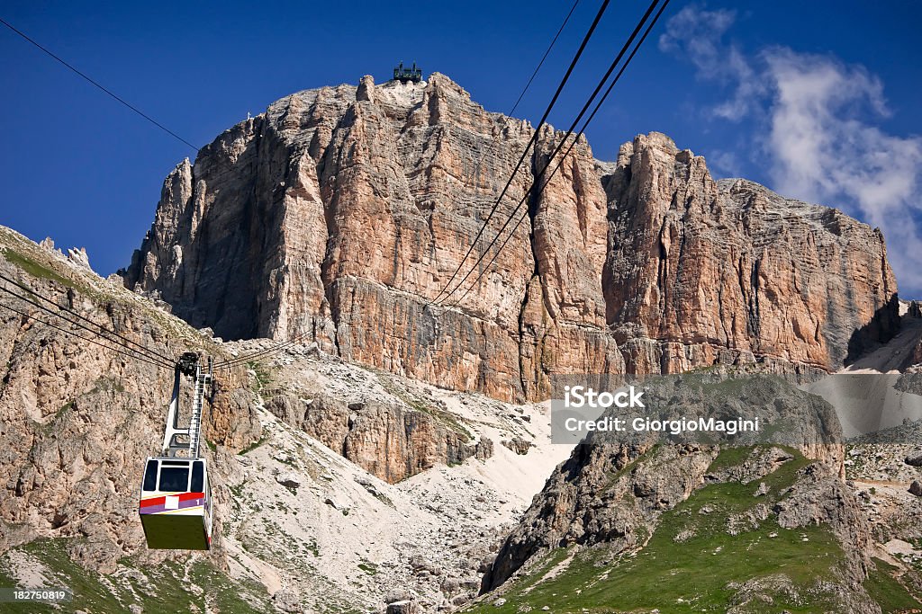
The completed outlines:
[[[130,559],[119,561],[118,570],[101,575],[81,567],[67,553],[70,539],[39,539],[20,550],[51,570],[49,587],[66,586],[74,600],[65,609],[89,612],[124,612],[139,605],[147,614],[188,611],[220,611],[246,614],[272,611],[262,585],[237,582],[220,572],[207,559],[167,561],[156,566],[136,566]],[[0,585],[14,586],[8,560],[0,558]],[[190,582],[195,585],[191,589]],[[43,613],[60,611],[36,603],[4,604],[5,612]]]

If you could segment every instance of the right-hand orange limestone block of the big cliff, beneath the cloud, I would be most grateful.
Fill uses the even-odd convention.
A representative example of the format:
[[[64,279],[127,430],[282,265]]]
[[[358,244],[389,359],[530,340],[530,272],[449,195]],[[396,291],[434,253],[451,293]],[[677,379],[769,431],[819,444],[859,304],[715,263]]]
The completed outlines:
[[[669,372],[722,349],[828,368],[899,328],[881,233],[747,180],[651,133],[623,145],[610,198],[609,321],[678,342]],[[638,365],[640,366],[640,365]]]

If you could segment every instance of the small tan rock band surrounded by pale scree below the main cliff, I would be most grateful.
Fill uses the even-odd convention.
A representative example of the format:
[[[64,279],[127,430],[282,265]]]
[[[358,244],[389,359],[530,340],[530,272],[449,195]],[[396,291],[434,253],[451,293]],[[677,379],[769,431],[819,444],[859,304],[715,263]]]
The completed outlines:
[[[347,407],[325,397],[304,400],[279,394],[266,401],[266,409],[391,483],[436,464],[455,465],[493,453],[489,438],[472,442],[469,434],[440,423],[431,413],[383,402]]]

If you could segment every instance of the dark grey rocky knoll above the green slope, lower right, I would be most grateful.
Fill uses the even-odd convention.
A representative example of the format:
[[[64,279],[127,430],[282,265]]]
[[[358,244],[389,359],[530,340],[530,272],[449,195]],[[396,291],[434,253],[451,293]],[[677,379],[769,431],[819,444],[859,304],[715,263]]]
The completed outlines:
[[[769,491],[762,486],[757,490],[756,482],[794,460],[788,450],[816,464],[798,474],[798,486],[786,493],[790,496],[783,503],[774,492],[779,501],[774,520],[783,527],[810,522],[833,527],[843,543],[855,546],[849,570],[860,582],[869,561],[869,529],[841,480],[845,462],[842,428],[829,403],[780,377],[654,377],[645,384],[647,408],[643,411],[654,418],[674,411],[690,418],[727,411],[728,415],[759,417],[762,424],[773,425],[769,430],[774,433],[762,439],[749,438],[751,434],[727,437],[726,445],[752,446],[751,453],[720,469],[711,465],[722,446],[698,443],[722,443],[716,434],[671,438],[652,432],[589,434],[550,476],[503,543],[491,570],[484,575],[485,592],[502,585],[550,549],[604,543],[617,554],[642,547],[664,511],[705,485],[753,484],[756,496],[764,496]],[[629,411],[620,410],[618,415],[631,419]],[[682,437],[686,440],[681,441]],[[769,441],[773,445],[767,446]],[[752,522],[768,517],[767,508],[762,512],[764,517]],[[741,518],[733,524],[746,522]]]

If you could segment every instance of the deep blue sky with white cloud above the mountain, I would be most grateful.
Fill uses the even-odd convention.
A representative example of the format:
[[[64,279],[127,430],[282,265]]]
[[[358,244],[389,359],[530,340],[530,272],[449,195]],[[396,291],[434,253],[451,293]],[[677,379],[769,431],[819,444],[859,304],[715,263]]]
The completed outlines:
[[[562,2],[4,3],[0,17],[196,145],[309,87],[384,81],[399,60],[508,111]],[[598,2],[581,0],[516,115],[537,122]],[[565,127],[646,3],[612,2],[551,115]],[[884,229],[901,295],[922,297],[922,3],[683,3],[588,131],[612,159],[668,133],[715,176],[837,206]],[[164,176],[195,152],[0,29],[0,224],[128,263]]]

